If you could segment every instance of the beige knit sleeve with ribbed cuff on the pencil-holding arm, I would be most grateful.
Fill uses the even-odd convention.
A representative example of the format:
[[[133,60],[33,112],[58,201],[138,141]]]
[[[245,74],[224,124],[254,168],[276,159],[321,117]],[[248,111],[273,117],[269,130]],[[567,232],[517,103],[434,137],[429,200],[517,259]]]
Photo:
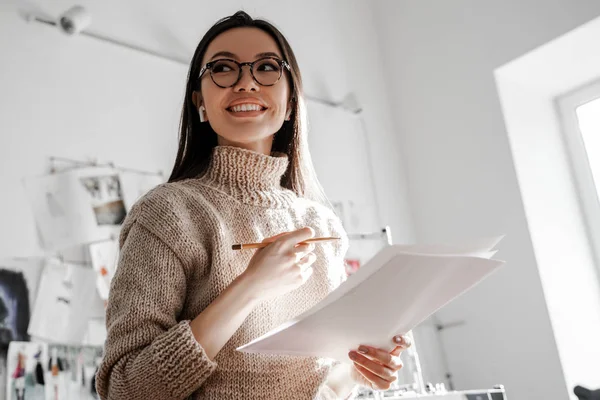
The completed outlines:
[[[184,265],[132,212],[111,284],[97,391],[102,399],[184,399],[216,364],[195,340],[189,321],[178,321],[186,293]]]

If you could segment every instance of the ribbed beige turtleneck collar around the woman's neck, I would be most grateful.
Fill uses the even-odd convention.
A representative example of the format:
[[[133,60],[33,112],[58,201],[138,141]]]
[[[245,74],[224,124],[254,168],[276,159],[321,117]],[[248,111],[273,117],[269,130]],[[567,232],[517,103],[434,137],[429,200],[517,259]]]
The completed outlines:
[[[289,206],[295,194],[281,186],[289,160],[284,153],[271,155],[233,146],[216,146],[202,183],[237,200],[269,208]]]

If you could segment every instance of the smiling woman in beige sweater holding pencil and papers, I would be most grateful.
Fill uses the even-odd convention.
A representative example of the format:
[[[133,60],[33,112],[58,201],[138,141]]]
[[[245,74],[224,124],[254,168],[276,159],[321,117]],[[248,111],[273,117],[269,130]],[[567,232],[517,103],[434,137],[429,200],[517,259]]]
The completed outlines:
[[[319,202],[294,54],[238,12],[194,54],[169,183],[124,222],[107,308],[104,399],[313,399],[387,389],[409,341],[361,346],[353,366],[235,349],[318,303],[344,278],[347,238]],[[300,245],[315,235],[339,243]],[[267,239],[263,239],[267,237]],[[231,250],[265,240],[261,250]],[[357,344],[358,345],[358,344]],[[358,352],[360,350],[360,352]]]

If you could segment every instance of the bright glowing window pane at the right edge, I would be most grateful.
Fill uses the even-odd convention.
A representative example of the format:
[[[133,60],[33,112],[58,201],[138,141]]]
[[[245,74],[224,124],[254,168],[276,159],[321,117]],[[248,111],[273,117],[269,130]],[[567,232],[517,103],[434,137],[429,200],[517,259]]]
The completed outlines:
[[[559,98],[557,104],[573,180],[600,268],[600,81]]]

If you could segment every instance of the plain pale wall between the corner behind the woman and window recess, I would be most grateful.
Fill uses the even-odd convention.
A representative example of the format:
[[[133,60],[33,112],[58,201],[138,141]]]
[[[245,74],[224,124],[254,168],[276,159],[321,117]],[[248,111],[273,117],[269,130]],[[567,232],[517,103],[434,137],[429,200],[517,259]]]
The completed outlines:
[[[442,322],[466,322],[443,332],[455,384],[502,383],[513,400],[564,399],[571,388],[561,370],[493,70],[597,16],[600,2],[376,4],[416,238],[507,234],[498,253],[507,261],[503,270],[438,314]]]

